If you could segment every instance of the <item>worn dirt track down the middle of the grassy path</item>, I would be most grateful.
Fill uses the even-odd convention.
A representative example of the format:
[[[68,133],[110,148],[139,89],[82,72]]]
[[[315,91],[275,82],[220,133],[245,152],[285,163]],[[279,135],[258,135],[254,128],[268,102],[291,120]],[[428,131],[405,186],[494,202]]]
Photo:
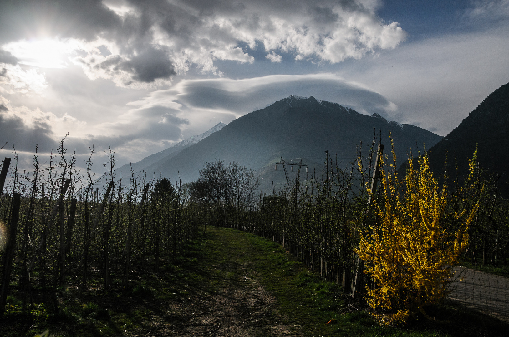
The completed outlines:
[[[274,298],[254,271],[257,250],[242,234],[225,236],[211,228],[208,244],[213,253],[197,266],[208,284],[200,290],[188,285],[187,296],[169,301],[161,308],[164,321],[149,335],[288,335],[278,324]]]

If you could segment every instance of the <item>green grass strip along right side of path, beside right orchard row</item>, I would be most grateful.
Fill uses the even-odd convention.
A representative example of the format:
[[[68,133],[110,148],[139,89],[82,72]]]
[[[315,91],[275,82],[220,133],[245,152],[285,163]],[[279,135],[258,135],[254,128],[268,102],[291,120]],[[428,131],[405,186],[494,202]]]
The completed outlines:
[[[235,230],[220,230],[232,237],[239,235]],[[297,335],[437,335],[380,326],[369,313],[348,307],[347,295],[338,286],[321,280],[316,273],[310,272],[286,254],[280,245],[251,234],[240,235],[251,242],[253,251],[249,255],[256,256],[256,269],[261,276],[261,283],[277,299],[280,319],[284,324],[292,326]],[[332,324],[326,324],[332,319],[335,320]]]

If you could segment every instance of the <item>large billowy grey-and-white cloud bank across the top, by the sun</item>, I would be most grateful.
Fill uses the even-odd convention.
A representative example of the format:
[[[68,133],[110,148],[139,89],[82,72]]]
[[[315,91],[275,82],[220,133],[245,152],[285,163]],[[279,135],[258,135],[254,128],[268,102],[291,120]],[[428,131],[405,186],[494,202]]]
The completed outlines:
[[[64,42],[74,48],[72,61],[90,79],[149,88],[171,84],[172,76],[191,68],[223,75],[217,60],[252,63],[246,45],[264,49],[272,62],[281,61],[279,52],[296,60],[337,63],[395,48],[406,34],[397,22],[379,18],[377,6],[356,0],[3,3],[0,44],[10,43],[9,51],[24,64],[65,66],[60,55],[68,51],[49,48],[59,55],[45,62],[26,53],[37,43],[59,47]],[[27,35],[32,36],[27,48],[13,47]]]

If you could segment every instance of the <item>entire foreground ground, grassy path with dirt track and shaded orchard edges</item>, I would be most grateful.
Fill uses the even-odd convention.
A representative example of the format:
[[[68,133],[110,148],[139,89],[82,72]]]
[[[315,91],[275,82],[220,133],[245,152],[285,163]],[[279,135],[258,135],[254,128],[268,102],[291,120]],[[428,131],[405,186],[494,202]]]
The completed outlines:
[[[438,317],[449,323],[381,327],[280,245],[234,229],[207,230],[186,246],[185,257],[161,263],[157,273],[131,273],[128,289],[120,276],[112,278],[113,290],[107,293],[100,278],[81,294],[78,282],[69,284],[58,314],[41,304],[30,320],[11,305],[0,335],[33,337],[46,329],[50,337],[491,336],[506,331],[496,320],[450,309]]]

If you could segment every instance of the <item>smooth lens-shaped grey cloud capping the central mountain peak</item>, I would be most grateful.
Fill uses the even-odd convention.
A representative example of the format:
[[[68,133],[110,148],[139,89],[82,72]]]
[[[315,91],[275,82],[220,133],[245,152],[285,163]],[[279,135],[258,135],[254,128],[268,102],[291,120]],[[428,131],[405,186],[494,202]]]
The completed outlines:
[[[190,136],[219,121],[228,123],[291,94],[313,95],[370,115],[377,112],[388,116],[397,110],[397,106],[383,95],[334,74],[181,80],[171,89],[151,92],[130,105],[142,111],[161,107],[172,110],[174,116],[188,119],[188,124],[182,124],[182,128]]]

